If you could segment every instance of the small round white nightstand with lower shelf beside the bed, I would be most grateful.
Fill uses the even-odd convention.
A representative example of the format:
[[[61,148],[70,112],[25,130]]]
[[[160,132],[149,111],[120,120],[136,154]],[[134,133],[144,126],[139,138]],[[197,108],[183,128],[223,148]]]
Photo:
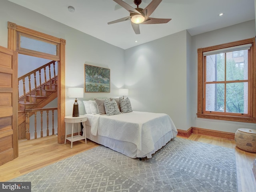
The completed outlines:
[[[79,141],[79,140],[85,140],[86,143],[86,132],[85,132],[85,122],[87,121],[87,117],[86,115],[80,115],[79,117],[72,117],[72,115],[70,116],[66,116],[64,117],[64,121],[65,123],[72,123],[72,133],[71,133],[71,137],[67,137],[67,132],[68,132],[68,125],[66,125],[66,134],[65,134],[65,144],[66,144],[66,140],[69,140],[71,142],[71,148],[73,146],[73,142],[74,141]],[[80,136],[80,123],[84,123],[84,137]],[[74,131],[74,124],[75,123],[79,123],[78,124],[78,135],[73,136],[73,131]]]

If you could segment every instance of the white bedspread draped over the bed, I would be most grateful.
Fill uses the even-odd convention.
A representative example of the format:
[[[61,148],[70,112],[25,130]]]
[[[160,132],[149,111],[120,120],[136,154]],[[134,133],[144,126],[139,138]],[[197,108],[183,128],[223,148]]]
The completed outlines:
[[[132,142],[137,146],[137,156],[154,150],[154,144],[166,133],[172,131],[172,138],[178,133],[170,116],[162,113],[133,111],[112,116],[96,114],[89,119],[92,135]]]

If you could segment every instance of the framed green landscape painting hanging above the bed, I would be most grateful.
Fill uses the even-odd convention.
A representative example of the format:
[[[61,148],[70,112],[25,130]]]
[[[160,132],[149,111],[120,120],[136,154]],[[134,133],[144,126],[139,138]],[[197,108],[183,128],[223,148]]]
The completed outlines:
[[[110,92],[110,69],[84,64],[84,92]]]

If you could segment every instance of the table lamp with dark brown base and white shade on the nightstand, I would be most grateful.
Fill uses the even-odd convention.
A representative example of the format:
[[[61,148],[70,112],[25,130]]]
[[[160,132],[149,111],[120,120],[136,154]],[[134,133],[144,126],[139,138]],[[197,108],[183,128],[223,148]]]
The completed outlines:
[[[84,98],[84,88],[80,88],[80,87],[68,88],[68,97],[76,98],[73,105],[72,117],[79,117],[79,108],[78,108],[77,98]]]

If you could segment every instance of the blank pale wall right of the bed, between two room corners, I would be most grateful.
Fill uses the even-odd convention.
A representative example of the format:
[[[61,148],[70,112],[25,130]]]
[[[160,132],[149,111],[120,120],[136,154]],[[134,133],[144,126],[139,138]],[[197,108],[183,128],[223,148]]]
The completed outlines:
[[[187,130],[186,30],[125,50],[125,84],[134,110],[168,114]]]

